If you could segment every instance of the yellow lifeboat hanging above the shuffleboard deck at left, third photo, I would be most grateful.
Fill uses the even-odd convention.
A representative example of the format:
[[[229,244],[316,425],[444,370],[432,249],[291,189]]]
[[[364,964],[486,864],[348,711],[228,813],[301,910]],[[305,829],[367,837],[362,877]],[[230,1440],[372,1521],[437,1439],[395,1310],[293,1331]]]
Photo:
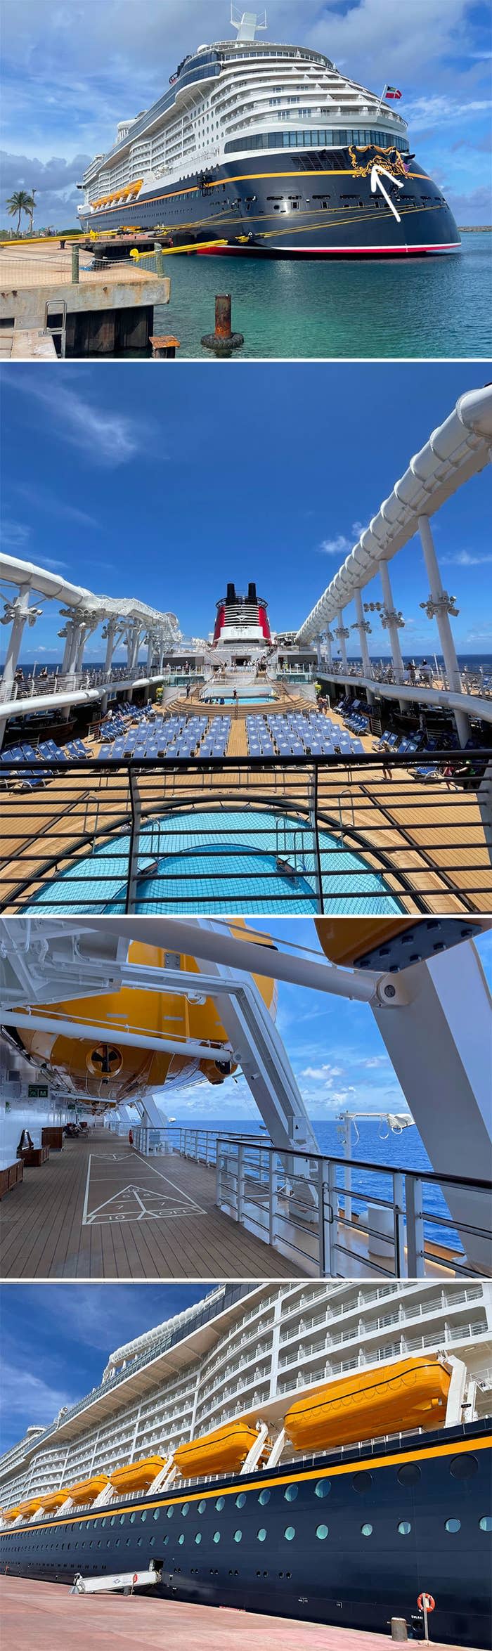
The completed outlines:
[[[241,925],[246,941],[271,946],[267,934],[246,928],[244,920],[234,918],[234,926]],[[122,986],[119,992],[102,992],[97,997],[79,997],[76,1002],[78,1020],[86,1020],[92,1027],[101,1027],[101,1038],[78,1038],[68,1032],[26,1032],[18,1034],[23,1048],[48,1063],[63,1080],[69,1078],[78,1086],[78,1093],[92,1101],[117,1106],[121,1101],[142,1095],[144,1090],[162,1088],[163,1085],[190,1085],[206,1076],[210,1083],[223,1083],[236,1071],[231,1060],[228,1035],[221,1024],[216,1002],[200,994],[200,971],[195,958],[182,956],[175,959],[177,967],[196,976],[195,994],[183,996],[165,989],[165,964],[168,954],[157,946],[142,941],[130,941],[127,951],[129,963],[142,963],[162,971],[162,992],[145,992]],[[276,984],[263,976],[254,976],[263,1001],[271,1014],[276,1014]],[[73,1002],[36,1004],[36,1015],[63,1015],[73,1019]],[[8,1015],[15,1025],[15,1010]],[[149,1032],[152,1037],[180,1037],[183,1052],[119,1045],[117,1030]],[[200,1060],[198,1053],[187,1052],[187,1042],[211,1042],[210,1055]]]

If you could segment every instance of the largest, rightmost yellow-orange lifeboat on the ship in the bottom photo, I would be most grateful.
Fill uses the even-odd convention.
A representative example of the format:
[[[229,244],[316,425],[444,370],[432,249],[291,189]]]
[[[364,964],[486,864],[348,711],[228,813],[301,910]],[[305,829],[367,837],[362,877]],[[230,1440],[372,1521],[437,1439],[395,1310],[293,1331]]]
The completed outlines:
[[[329,1450],[446,1422],[451,1372],[433,1355],[353,1370],[297,1398],[284,1428],[294,1450]]]

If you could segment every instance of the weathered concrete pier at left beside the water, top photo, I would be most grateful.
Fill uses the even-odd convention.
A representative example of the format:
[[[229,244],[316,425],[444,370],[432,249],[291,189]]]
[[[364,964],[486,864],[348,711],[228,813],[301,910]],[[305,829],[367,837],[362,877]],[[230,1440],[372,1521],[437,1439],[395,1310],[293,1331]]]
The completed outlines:
[[[10,335],[12,357],[43,355],[43,338],[51,358],[53,347],[71,358],[147,348],[154,307],[168,304],[170,279],[130,259],[91,266],[92,254],[79,248],[0,248],[0,329],[5,340]]]

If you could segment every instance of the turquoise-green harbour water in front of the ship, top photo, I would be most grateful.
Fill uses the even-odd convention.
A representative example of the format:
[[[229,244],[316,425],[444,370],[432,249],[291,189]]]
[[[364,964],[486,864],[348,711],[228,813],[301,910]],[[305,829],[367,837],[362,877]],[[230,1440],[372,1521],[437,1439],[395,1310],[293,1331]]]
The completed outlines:
[[[272,357],[487,357],[490,353],[492,233],[462,236],[449,258],[357,263],[168,259],[170,304],[155,332],[180,338],[180,360],[215,360],[201,334],[215,327],[215,294],[231,292],[234,360]]]

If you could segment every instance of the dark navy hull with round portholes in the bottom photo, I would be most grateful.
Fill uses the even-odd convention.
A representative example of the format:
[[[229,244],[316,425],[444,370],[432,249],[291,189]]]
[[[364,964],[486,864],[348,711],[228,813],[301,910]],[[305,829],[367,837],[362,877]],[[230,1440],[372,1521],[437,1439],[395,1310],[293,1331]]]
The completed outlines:
[[[433,1639],[490,1651],[484,1423],[142,1496],[2,1532],[10,1575],[162,1568],[152,1593],[388,1634],[433,1595]]]

